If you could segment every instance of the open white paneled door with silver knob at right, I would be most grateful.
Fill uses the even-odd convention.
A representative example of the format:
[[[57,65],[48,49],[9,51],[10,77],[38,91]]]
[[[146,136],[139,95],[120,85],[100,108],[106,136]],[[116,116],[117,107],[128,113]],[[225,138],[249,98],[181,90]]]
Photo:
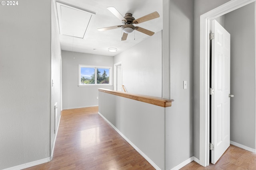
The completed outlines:
[[[230,146],[230,33],[212,21],[211,162]]]

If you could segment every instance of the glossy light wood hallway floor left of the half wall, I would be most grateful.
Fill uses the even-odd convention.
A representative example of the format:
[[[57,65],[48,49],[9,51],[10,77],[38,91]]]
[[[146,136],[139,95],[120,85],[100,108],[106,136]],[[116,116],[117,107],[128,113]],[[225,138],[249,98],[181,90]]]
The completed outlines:
[[[154,170],[98,115],[98,107],[62,111],[53,159],[26,170]]]

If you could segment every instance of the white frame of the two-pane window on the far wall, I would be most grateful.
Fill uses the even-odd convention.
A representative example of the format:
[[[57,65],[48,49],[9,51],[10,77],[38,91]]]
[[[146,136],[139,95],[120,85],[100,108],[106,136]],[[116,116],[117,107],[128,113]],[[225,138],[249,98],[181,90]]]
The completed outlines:
[[[81,68],[94,68],[94,78],[95,82],[94,84],[81,84]],[[107,68],[109,69],[109,83],[108,84],[97,84],[97,68]],[[84,65],[84,64],[78,64],[78,86],[79,87],[88,87],[88,86],[112,86],[112,67],[111,66],[94,66],[94,65]]]

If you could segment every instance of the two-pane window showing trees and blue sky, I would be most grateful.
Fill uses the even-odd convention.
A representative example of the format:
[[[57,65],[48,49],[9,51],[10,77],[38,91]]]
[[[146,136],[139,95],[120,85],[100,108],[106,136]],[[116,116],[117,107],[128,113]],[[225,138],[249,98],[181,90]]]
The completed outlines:
[[[79,86],[111,85],[111,67],[79,65]]]

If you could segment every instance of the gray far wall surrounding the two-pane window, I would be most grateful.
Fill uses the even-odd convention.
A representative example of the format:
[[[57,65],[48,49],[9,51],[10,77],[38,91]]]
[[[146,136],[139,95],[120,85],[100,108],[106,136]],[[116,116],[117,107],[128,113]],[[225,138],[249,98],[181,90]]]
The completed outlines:
[[[98,88],[113,89],[113,86],[78,87],[78,64],[110,66],[113,76],[113,57],[62,51],[63,109],[98,106]]]

